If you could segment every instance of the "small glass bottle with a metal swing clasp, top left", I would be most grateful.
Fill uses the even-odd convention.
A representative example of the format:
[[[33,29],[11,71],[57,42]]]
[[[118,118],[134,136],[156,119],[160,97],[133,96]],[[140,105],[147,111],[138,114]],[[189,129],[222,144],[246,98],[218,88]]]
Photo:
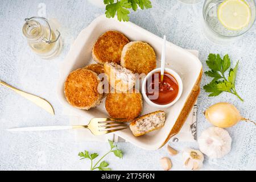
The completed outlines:
[[[44,20],[47,27],[35,19]],[[59,55],[62,48],[60,32],[58,30],[53,31],[46,18],[32,17],[25,19],[25,21],[23,35],[26,36],[28,46],[32,51],[43,59],[53,59]]]

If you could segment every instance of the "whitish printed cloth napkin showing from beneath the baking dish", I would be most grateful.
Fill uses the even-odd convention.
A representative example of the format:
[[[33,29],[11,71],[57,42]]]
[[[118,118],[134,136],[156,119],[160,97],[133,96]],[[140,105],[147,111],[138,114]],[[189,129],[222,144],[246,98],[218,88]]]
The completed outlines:
[[[196,50],[188,50],[193,55],[199,55]],[[63,115],[69,116],[70,125],[84,125],[84,121],[88,118],[84,118],[81,115],[73,112],[72,110],[64,107]],[[184,123],[179,134],[171,138],[173,142],[195,142],[196,141],[196,116],[197,116],[197,105],[195,105],[189,114],[187,121]],[[90,141],[90,142],[107,142],[108,139],[114,142],[126,142],[125,139],[118,137],[115,134],[107,134],[102,136],[94,136],[88,130],[72,130],[75,133],[75,140],[77,141]]]

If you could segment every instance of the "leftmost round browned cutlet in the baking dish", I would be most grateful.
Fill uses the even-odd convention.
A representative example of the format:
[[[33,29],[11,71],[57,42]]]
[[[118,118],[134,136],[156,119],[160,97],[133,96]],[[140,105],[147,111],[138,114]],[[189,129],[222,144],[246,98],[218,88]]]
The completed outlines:
[[[77,69],[65,81],[65,96],[72,106],[88,110],[100,104],[102,98],[101,80],[88,69]]]

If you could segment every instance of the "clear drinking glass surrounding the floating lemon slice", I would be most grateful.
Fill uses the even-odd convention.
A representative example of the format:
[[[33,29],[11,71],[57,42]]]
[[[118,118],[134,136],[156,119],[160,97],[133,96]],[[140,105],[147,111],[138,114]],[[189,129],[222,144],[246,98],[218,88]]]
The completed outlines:
[[[213,32],[218,38],[235,38],[242,34],[245,34],[255,21],[255,2],[254,0],[238,0],[247,3],[251,11],[250,22],[246,27],[241,28],[241,30],[230,30],[222,25],[217,16],[218,7],[225,0],[206,0],[203,6],[203,17],[204,23],[208,28],[208,31]],[[208,32],[209,33],[209,32]]]

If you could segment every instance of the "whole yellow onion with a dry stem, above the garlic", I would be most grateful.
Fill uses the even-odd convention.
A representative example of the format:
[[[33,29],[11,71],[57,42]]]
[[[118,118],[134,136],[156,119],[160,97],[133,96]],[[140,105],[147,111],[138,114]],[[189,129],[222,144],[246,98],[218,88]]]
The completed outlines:
[[[232,127],[238,122],[245,120],[234,105],[226,102],[210,106],[204,114],[210,123],[221,128]]]

